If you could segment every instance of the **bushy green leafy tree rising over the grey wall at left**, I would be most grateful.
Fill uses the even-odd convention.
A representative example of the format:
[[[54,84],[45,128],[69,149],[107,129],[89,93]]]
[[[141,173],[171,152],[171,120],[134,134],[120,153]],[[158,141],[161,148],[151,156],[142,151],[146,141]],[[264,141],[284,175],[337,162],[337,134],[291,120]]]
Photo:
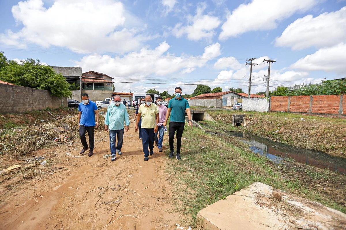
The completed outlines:
[[[7,65],[0,70],[0,79],[18,86],[44,89],[53,96],[72,98],[70,84],[53,68],[40,64],[37,59],[27,59],[18,65],[15,61],[7,61]]]

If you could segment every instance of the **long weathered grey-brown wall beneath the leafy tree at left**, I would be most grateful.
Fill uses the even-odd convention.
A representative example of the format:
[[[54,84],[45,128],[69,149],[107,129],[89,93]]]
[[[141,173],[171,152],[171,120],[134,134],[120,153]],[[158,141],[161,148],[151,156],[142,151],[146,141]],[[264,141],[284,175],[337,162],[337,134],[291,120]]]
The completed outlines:
[[[45,108],[67,107],[67,97],[51,96],[47,90],[0,84],[0,113],[24,113]]]

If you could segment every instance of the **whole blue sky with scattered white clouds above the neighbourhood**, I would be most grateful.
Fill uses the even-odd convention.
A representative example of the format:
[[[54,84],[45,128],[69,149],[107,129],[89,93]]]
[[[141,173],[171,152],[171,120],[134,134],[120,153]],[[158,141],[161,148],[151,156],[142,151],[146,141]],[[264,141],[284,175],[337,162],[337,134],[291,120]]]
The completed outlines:
[[[0,0],[0,50],[115,79],[118,92],[156,88],[251,93],[346,74],[345,0]],[[244,76],[245,75],[245,76]]]

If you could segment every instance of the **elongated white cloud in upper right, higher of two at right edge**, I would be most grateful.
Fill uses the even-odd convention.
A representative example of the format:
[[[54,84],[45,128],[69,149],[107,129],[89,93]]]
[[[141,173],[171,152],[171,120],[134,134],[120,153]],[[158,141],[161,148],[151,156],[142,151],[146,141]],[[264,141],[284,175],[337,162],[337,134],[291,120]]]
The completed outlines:
[[[275,39],[275,45],[301,50],[311,46],[329,47],[343,41],[346,41],[346,7],[316,18],[307,15],[295,20]]]

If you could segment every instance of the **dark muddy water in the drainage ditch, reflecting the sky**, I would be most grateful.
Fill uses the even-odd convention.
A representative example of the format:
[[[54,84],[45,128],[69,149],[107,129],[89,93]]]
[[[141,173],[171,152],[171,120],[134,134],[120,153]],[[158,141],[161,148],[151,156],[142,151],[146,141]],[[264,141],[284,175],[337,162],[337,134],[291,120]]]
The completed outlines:
[[[303,148],[296,148],[245,133],[227,132],[227,134],[222,134],[214,132],[214,134],[240,137],[239,141],[250,145],[249,148],[254,153],[263,155],[278,164],[284,164],[287,158],[291,158],[302,164],[308,164],[321,169],[329,169],[334,172],[346,174],[346,159],[342,157],[330,156],[326,153]]]

